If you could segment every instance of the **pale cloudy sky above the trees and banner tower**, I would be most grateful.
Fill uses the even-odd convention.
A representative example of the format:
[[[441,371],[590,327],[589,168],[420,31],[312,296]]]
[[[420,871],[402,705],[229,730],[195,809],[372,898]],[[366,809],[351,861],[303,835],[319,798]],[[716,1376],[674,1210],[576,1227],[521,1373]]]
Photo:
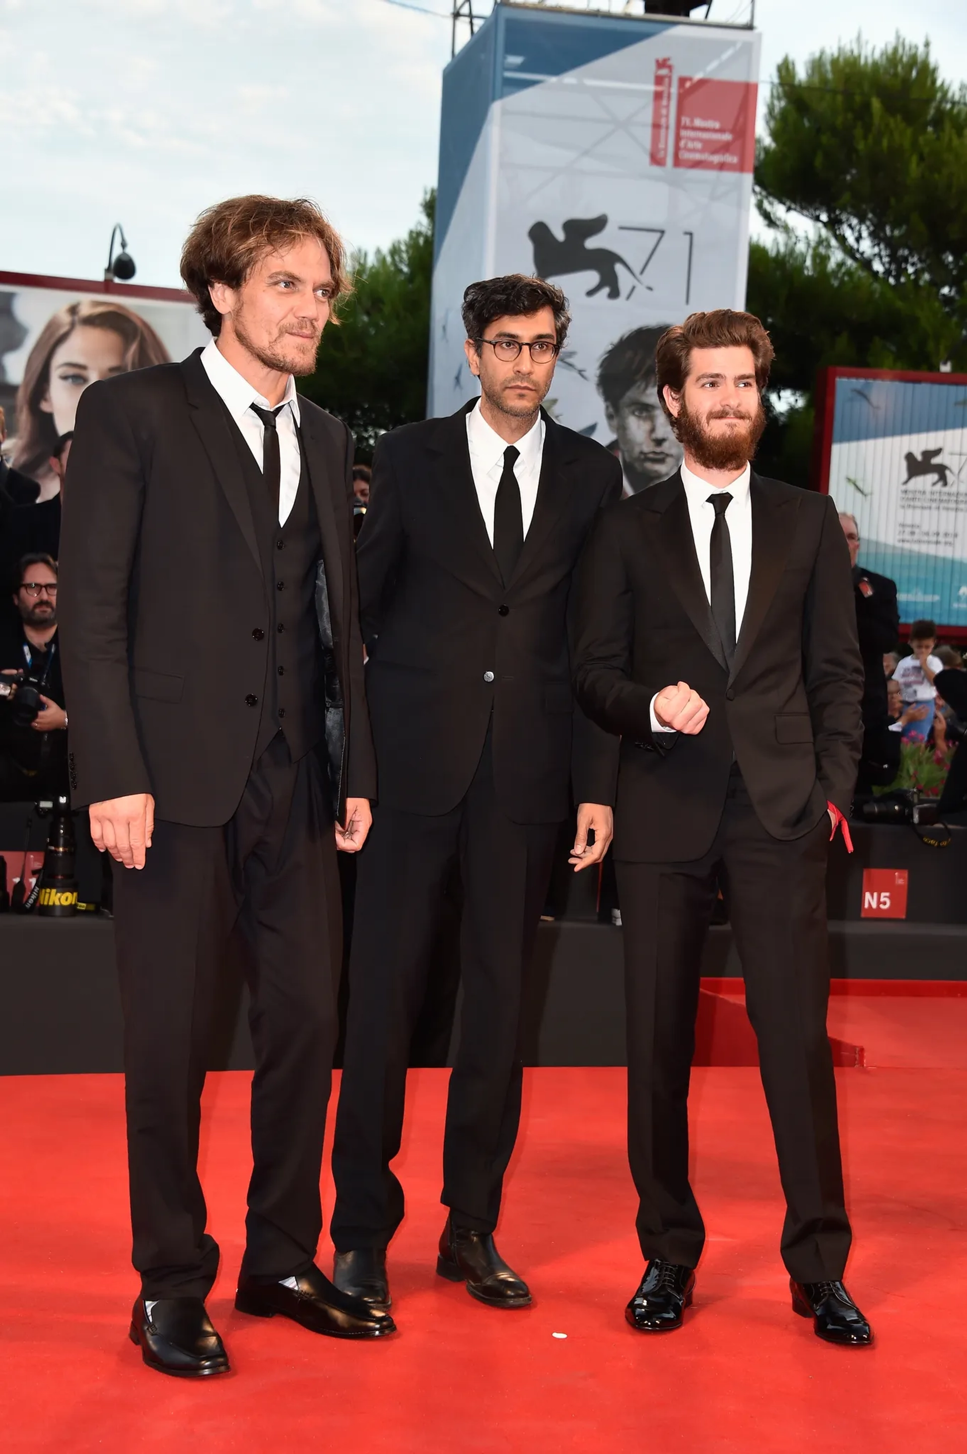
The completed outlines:
[[[713,0],[710,19],[742,20],[748,3]],[[241,192],[312,196],[353,247],[386,246],[436,182],[449,9],[0,0],[0,270],[100,278],[119,221],[135,281],[177,286],[197,212]],[[897,31],[967,79],[948,0],[758,0],[755,20],[764,80],[783,55]]]

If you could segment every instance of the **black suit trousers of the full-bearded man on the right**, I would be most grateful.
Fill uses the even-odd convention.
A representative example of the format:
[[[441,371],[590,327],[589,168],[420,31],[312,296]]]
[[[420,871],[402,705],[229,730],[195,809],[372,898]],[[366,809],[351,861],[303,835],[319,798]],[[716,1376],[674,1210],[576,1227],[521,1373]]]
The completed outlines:
[[[646,1258],[695,1266],[704,1243],[688,1182],[688,1080],[701,949],[722,883],[786,1194],[783,1261],[803,1282],[842,1277],[851,1232],[826,1035],[828,839],[826,814],[803,838],[772,838],[733,769],[709,853],[691,862],[617,864],[629,1160]]]

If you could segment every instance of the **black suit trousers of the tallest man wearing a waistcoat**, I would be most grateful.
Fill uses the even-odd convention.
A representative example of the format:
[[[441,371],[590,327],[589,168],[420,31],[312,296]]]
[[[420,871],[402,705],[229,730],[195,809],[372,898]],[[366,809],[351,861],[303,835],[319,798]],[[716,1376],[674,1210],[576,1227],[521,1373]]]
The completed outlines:
[[[335,1044],[340,890],[327,788],[285,737],[224,827],[155,824],[145,868],[115,869],[134,1265],[145,1297],[205,1297],[218,1269],[197,1176],[212,1011],[234,926],[247,941],[253,1173],[244,1269],[306,1268]]]

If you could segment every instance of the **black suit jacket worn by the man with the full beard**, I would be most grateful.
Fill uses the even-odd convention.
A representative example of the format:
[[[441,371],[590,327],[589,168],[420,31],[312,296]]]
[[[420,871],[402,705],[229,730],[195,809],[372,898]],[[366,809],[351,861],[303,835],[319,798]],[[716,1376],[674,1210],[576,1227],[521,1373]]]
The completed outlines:
[[[617,858],[700,858],[732,755],[765,829],[794,839],[832,801],[849,811],[862,663],[849,551],[828,496],[754,474],[752,571],[729,670],[698,570],[681,477],[608,510],[579,574],[578,701],[621,734]],[[650,730],[650,701],[685,680],[709,702],[694,737]]]

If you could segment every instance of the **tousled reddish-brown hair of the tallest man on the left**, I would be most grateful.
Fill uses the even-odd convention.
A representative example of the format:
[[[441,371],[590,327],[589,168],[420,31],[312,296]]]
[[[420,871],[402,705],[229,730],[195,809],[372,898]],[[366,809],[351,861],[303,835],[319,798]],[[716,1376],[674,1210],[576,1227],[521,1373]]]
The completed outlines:
[[[292,247],[303,237],[315,237],[328,253],[335,302],[340,294],[351,289],[346,244],[315,202],[306,198],[290,202],[277,196],[232,196],[200,214],[181,249],[181,278],[215,337],[222,316],[212,302],[211,284],[241,288],[260,257]]]

